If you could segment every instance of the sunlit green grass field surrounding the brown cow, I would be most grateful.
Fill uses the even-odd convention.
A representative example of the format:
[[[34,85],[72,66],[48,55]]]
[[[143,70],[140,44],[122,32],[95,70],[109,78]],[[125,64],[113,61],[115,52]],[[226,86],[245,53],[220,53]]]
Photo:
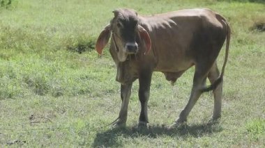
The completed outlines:
[[[265,147],[262,0],[1,1],[0,147]],[[127,127],[105,126],[119,114],[120,85],[108,50],[98,57],[94,47],[112,10],[119,7],[144,15],[206,7],[227,18],[232,40],[220,124],[207,124],[213,95],[205,93],[185,129],[165,130],[188,102],[194,72],[190,69],[174,86],[161,73],[153,74],[149,129],[135,130],[140,110],[137,81]]]

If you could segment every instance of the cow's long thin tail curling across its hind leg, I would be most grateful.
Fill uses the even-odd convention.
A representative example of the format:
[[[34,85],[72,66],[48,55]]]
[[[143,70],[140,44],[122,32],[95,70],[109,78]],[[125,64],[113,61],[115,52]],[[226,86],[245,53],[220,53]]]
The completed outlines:
[[[225,60],[224,60],[224,63],[222,65],[222,72],[221,72],[220,76],[218,77],[218,79],[216,79],[211,85],[209,85],[205,88],[202,88],[202,90],[201,90],[202,92],[209,92],[210,90],[215,90],[215,88],[217,88],[218,85],[220,83],[222,83],[222,78],[223,78],[224,73],[225,73],[225,65],[227,65],[231,29],[230,29],[229,24],[227,23],[227,21],[223,17],[222,17],[222,22],[224,22],[227,26],[227,44],[226,44],[226,49],[225,49]]]

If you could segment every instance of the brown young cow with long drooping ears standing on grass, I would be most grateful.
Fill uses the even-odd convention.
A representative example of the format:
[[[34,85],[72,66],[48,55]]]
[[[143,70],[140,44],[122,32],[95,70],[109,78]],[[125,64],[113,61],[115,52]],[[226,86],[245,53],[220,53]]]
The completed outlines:
[[[125,126],[132,82],[139,79],[141,113],[138,126],[148,123],[151,76],[162,72],[174,83],[195,65],[195,75],[188,104],[171,127],[186,122],[202,92],[213,90],[213,120],[221,115],[222,77],[229,51],[230,28],[224,17],[209,9],[178,10],[152,16],[139,16],[135,10],[114,10],[114,18],[96,42],[98,54],[110,37],[110,54],[116,64],[116,81],[121,83],[121,111],[113,126]],[[216,59],[227,38],[225,62],[219,73]],[[211,85],[206,87],[206,78]]]

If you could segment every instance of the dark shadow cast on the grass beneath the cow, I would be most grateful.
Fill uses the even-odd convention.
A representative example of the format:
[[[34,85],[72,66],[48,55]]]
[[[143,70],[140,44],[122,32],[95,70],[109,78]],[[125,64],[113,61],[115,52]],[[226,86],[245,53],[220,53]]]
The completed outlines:
[[[169,130],[165,126],[150,126],[148,129],[141,131],[137,130],[135,126],[126,127],[123,129],[109,129],[107,131],[98,132],[93,142],[93,147],[122,147],[123,138],[159,138],[160,135],[169,135],[172,137],[187,138],[192,136],[199,138],[205,135],[211,135],[222,131],[220,124],[196,124],[185,126],[182,129]]]

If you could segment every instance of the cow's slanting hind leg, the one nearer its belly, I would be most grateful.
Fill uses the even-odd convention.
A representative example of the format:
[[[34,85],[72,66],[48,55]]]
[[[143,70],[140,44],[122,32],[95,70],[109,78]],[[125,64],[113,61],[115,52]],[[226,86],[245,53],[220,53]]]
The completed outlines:
[[[206,76],[208,74],[208,71],[209,69],[207,70],[206,67],[203,68],[199,68],[198,66],[195,67],[195,75],[193,78],[193,85],[188,104],[181,111],[179,119],[176,120],[176,122],[174,122],[174,124],[172,124],[172,126],[169,127],[170,129],[179,128],[180,126],[183,126],[183,124],[185,124],[185,122],[187,121],[187,117],[190,111],[192,110],[193,106],[196,104],[197,100],[202,94],[201,89],[204,88],[205,86]]]

